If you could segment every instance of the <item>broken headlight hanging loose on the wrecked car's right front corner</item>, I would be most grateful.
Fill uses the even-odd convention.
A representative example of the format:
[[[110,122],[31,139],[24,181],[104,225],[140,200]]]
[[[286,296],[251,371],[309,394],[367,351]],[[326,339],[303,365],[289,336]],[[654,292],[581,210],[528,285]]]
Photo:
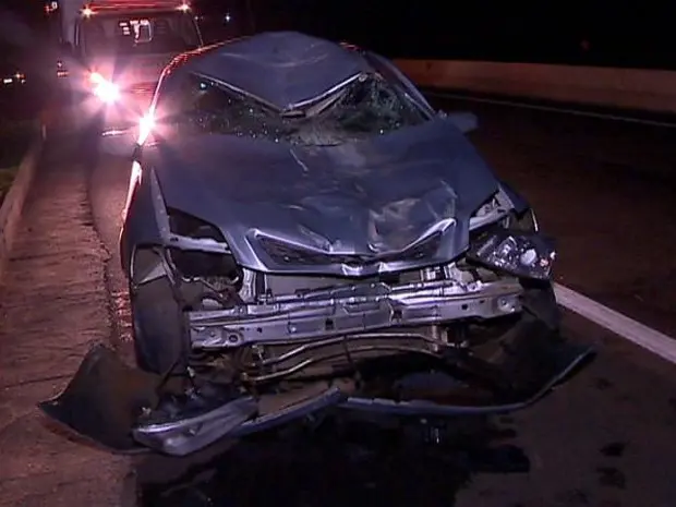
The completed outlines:
[[[471,246],[468,258],[519,278],[550,278],[556,257],[554,242],[539,232],[494,229]]]

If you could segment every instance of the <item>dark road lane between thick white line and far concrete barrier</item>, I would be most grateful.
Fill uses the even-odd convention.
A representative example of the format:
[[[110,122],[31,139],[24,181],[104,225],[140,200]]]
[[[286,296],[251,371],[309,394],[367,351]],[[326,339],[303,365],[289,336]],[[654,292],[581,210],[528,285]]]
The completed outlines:
[[[676,123],[609,121],[432,97],[558,241],[558,282],[676,337]]]

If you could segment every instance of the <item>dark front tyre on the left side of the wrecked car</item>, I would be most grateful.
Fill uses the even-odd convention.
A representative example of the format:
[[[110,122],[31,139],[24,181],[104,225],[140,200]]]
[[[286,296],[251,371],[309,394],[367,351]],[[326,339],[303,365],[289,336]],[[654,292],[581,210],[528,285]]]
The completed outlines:
[[[136,364],[146,372],[180,371],[189,352],[183,313],[166,277],[130,289]]]

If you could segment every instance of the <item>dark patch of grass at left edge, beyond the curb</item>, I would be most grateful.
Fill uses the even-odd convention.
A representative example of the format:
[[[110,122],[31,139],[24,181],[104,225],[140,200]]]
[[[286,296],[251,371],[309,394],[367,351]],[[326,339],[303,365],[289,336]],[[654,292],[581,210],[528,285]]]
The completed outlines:
[[[34,120],[0,120],[0,205],[12,186],[36,128]]]

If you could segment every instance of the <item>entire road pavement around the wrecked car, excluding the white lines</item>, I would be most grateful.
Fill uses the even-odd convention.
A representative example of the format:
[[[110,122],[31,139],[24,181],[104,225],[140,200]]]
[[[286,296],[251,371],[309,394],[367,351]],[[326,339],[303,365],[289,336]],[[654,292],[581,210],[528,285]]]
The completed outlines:
[[[479,114],[472,138],[559,239],[559,281],[674,334],[676,131],[437,105]],[[440,445],[329,432],[180,460],[116,457],[67,438],[35,403],[65,385],[89,345],[130,352],[117,259],[130,168],[75,164],[69,152],[64,140],[49,145],[0,290],[0,506],[673,505],[675,367],[572,314],[565,333],[599,348],[587,371]]]

